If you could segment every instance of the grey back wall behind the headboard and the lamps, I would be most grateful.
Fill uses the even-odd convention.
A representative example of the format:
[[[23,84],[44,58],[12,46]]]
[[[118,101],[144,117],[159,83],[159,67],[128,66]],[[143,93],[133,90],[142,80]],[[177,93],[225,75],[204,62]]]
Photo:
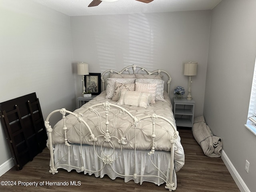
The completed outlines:
[[[122,70],[132,64],[165,70],[172,77],[171,98],[178,85],[188,90],[183,62],[198,62],[192,97],[196,100],[195,115],[202,115],[210,14],[208,10],[71,17],[74,62],[87,62],[94,73]],[[80,96],[80,76],[76,76],[76,87],[80,87],[76,90]]]

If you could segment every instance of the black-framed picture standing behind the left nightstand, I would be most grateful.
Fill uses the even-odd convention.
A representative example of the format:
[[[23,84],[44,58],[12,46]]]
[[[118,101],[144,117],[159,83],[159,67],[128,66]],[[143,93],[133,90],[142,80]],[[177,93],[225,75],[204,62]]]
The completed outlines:
[[[85,91],[90,91],[92,95],[98,95],[101,92],[100,73],[89,73],[84,76]]]

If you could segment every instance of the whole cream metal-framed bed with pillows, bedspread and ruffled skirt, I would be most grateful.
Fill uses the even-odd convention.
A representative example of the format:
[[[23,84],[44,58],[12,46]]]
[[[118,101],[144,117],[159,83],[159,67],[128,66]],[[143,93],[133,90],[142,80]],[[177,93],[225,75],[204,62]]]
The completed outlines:
[[[128,66],[102,76],[102,92],[74,112],[51,112],[45,121],[50,173],[58,168],[124,182],[166,183],[176,190],[184,150],[169,98],[170,75]],[[49,119],[62,114],[53,128]]]

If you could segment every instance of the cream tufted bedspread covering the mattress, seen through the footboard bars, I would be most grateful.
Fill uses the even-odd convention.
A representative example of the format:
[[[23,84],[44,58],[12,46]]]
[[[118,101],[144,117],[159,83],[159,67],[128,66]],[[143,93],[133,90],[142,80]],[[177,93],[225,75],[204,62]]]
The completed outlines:
[[[93,112],[87,111],[84,113],[84,110],[88,107],[103,103],[103,102],[110,102],[113,104],[116,104],[117,102],[112,101],[111,99],[106,99],[106,91],[102,92],[100,95],[98,95],[96,98],[92,99],[90,102],[84,104],[81,108],[78,108],[74,111],[74,113],[81,113],[83,114],[82,118],[87,122],[87,124],[90,126],[93,134],[95,136],[101,135],[99,131],[99,124],[101,124],[102,128],[105,128],[105,112],[102,110],[98,110],[100,112],[101,119],[98,120],[97,116]],[[143,107],[135,107],[135,106],[126,106],[123,105],[122,107],[127,109],[131,114],[136,116],[137,118],[140,118],[142,116],[157,114],[160,116],[163,116],[170,120],[175,125],[174,116],[172,113],[172,104],[170,102],[170,98],[167,94],[167,92],[164,92],[164,99],[166,102],[163,101],[157,101],[155,104],[150,104],[150,107],[147,107],[146,109]],[[110,121],[110,124],[108,126],[108,129],[110,131],[111,135],[115,135],[117,138],[121,138],[126,131],[127,127],[130,126],[130,122],[132,122],[130,116],[128,115],[118,115],[116,120],[113,119],[114,114],[117,114],[117,109],[110,109],[110,113],[108,115],[108,119]],[[115,124],[116,122],[116,124]],[[81,125],[83,125],[81,123]],[[82,141],[82,144],[90,144],[93,143],[89,141],[89,135],[90,132],[87,130],[87,128],[81,129],[81,137],[80,137],[80,123],[77,121],[76,117],[73,115],[66,116],[66,126],[67,126],[67,138],[68,142],[70,143],[76,143],[80,144],[80,138]],[[52,143],[64,143],[64,132],[63,132],[63,120],[60,120],[55,126],[52,131]],[[151,119],[143,120],[142,122],[139,122],[136,127],[136,149],[138,150],[150,150],[152,147],[152,121]],[[170,151],[171,143],[170,143],[170,136],[173,135],[173,129],[169,124],[166,124],[166,122],[162,119],[156,119],[156,128],[155,128],[155,150],[164,150],[164,151]],[[135,146],[135,133],[134,133],[134,127],[130,128],[125,135],[126,138],[126,145],[122,145],[122,148],[124,149],[134,149]],[[99,138],[98,141],[95,143],[95,145],[101,146],[101,143],[103,141],[103,138]],[[115,148],[120,148],[120,144],[118,143],[118,140],[112,140]],[[104,147],[108,147],[108,143],[104,143]],[[180,144],[180,138],[178,136],[178,139],[175,143],[175,150],[179,148],[183,151],[182,145]]]

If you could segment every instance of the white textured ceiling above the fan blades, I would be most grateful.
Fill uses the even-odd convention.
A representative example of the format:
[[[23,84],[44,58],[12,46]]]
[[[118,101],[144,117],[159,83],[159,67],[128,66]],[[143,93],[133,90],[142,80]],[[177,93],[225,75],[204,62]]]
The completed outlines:
[[[68,16],[133,14],[152,12],[174,12],[189,10],[211,10],[221,0],[154,0],[142,3],[136,0],[101,2],[88,7],[92,0],[32,0]]]

